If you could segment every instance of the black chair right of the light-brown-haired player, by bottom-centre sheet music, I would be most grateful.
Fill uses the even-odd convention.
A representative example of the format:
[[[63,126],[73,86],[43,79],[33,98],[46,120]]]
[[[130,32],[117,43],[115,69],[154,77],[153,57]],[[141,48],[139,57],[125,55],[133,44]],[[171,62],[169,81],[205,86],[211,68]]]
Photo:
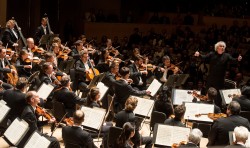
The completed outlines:
[[[164,123],[166,120],[166,115],[162,112],[153,111],[150,119],[150,136],[154,131],[155,123]]]

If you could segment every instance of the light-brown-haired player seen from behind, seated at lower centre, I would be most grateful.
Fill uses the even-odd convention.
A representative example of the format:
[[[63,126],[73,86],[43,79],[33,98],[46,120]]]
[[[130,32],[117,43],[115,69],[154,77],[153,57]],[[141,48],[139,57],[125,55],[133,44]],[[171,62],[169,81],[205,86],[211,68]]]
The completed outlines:
[[[135,126],[135,136],[131,138],[134,147],[145,145],[145,148],[152,147],[152,137],[144,137],[139,134],[141,120],[135,116],[134,110],[137,106],[138,100],[135,97],[129,97],[126,100],[125,108],[115,115],[116,126],[122,128],[126,122],[130,122]]]

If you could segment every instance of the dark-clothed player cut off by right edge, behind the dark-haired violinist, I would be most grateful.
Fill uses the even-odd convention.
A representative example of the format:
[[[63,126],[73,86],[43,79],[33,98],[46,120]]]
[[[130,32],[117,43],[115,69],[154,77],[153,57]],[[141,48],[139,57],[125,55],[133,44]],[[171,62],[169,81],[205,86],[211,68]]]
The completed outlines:
[[[241,96],[233,100],[240,104],[242,111],[250,111],[250,86],[242,87]]]

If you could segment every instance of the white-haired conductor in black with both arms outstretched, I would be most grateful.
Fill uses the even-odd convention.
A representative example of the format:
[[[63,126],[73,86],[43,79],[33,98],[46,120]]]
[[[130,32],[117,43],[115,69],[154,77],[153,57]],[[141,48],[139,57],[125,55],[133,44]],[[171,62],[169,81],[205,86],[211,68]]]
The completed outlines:
[[[226,43],[219,41],[215,44],[214,52],[210,52],[207,55],[201,55],[198,51],[194,56],[201,57],[203,60],[209,62],[209,73],[207,78],[206,88],[214,87],[217,91],[224,88],[224,76],[227,65],[230,61],[241,61],[242,57],[233,58],[229,53],[225,53]],[[215,104],[219,107],[222,106],[221,98],[218,97],[215,100]]]

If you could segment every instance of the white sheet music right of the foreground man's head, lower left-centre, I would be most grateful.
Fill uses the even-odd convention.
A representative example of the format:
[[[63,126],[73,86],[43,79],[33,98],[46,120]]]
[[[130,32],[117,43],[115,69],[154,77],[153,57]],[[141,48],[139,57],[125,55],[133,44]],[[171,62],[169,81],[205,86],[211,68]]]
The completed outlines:
[[[105,117],[106,110],[100,108],[89,108],[85,106],[83,106],[81,110],[85,114],[82,125],[99,130]]]

